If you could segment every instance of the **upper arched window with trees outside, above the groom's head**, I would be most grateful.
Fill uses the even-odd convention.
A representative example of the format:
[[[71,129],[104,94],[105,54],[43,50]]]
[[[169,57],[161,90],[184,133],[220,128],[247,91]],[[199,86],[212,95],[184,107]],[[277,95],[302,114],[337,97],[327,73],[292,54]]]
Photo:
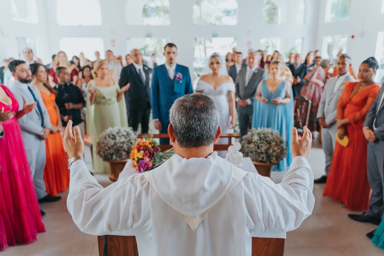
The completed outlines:
[[[148,0],[142,10],[142,25],[167,26],[170,24],[168,0]]]

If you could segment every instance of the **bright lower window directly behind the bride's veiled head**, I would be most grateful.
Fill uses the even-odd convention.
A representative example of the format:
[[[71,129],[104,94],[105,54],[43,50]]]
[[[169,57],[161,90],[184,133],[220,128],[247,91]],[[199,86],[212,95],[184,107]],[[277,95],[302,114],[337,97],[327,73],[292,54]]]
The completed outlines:
[[[219,53],[225,65],[225,55],[232,53],[232,48],[236,47],[236,39],[233,37],[212,37],[194,39],[194,86],[199,76],[209,73],[208,58],[212,53]],[[195,88],[195,87],[194,87]]]

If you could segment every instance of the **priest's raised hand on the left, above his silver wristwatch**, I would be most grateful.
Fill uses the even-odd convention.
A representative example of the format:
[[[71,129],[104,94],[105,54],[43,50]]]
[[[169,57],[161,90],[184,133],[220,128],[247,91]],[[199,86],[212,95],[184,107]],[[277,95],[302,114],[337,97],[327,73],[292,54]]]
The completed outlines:
[[[74,156],[83,156],[84,154],[84,141],[81,138],[80,128],[79,126],[75,126],[73,135],[72,121],[69,121],[67,127],[65,128],[63,145],[69,158],[73,158]]]

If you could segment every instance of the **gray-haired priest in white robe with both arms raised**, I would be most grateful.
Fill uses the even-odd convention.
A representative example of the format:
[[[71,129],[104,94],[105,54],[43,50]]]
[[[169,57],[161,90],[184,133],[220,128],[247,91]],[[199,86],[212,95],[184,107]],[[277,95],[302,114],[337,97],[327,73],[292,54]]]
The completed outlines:
[[[220,113],[208,96],[177,99],[168,133],[175,155],[145,173],[103,188],[83,160],[84,144],[71,125],[64,145],[71,158],[68,210],[85,233],[134,229],[139,255],[250,255],[252,235],[296,229],[314,206],[306,160],[312,135],[292,130],[294,159],[280,184],[233,166],[213,151]]]

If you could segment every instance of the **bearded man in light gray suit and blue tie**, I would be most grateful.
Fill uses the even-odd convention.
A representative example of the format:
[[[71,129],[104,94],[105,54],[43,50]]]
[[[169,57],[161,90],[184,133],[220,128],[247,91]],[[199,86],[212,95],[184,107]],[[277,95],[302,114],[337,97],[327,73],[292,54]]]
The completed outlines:
[[[9,63],[9,69],[15,78],[9,88],[19,103],[19,110],[23,109],[24,101],[26,104],[37,103],[35,110],[17,120],[22,129],[26,156],[35,183],[37,198],[39,203],[57,201],[61,196],[47,194],[43,178],[46,162],[45,139],[51,131],[48,111],[39,89],[30,84],[32,81],[30,67],[23,60],[14,60]]]

